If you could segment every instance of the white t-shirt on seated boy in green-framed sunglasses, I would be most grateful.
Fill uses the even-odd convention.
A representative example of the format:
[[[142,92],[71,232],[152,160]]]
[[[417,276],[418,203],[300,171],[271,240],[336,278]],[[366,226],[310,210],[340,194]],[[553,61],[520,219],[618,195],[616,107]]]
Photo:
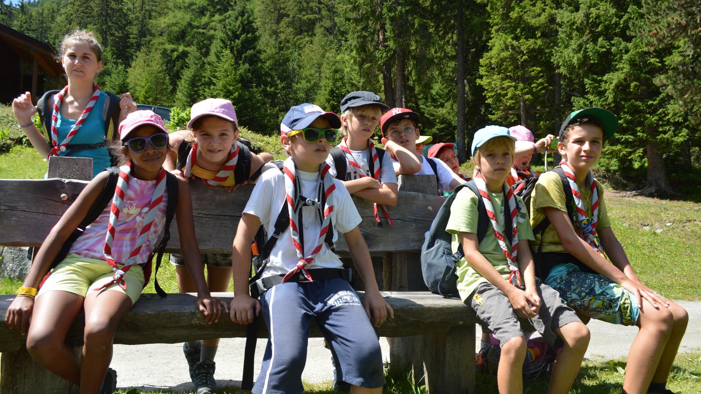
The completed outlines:
[[[319,173],[297,170],[297,177],[301,181],[302,196],[316,198]],[[331,213],[331,221],[334,226],[333,239],[335,243],[338,239],[338,232],[347,233],[355,229],[362,219],[358,214],[358,210],[355,209],[355,204],[353,204],[351,194],[348,193],[346,186],[343,186],[343,183],[338,179],[334,179],[334,183],[336,184],[336,189],[333,191],[334,212]],[[243,213],[259,217],[268,236],[270,236],[273,229],[275,229],[275,221],[283,208],[283,203],[286,204],[283,172],[280,172],[277,168],[266,170],[259,177],[256,186],[253,188]],[[299,228],[301,231],[304,231],[304,252],[306,257],[314,250],[317,244],[321,222],[316,208],[305,206],[301,210],[302,224]],[[299,257],[297,257],[297,250],[294,249],[292,244],[292,230],[288,226],[287,230],[280,235],[278,242],[275,243],[271,251],[270,260],[263,277],[285,274],[297,266],[297,261],[299,261]],[[320,252],[316,254],[311,264],[307,265],[308,269],[342,267],[343,264],[339,257],[329,250],[325,244]]]

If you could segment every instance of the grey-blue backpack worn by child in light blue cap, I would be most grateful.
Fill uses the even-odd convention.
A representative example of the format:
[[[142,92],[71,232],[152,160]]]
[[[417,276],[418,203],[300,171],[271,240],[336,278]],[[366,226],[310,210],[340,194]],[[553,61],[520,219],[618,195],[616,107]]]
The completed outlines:
[[[479,190],[474,180],[459,184],[454,192],[446,198],[438,210],[430,228],[423,235],[423,245],[421,245],[421,273],[423,282],[428,289],[443,297],[458,296],[457,280],[455,274],[457,262],[465,257],[463,246],[458,245],[458,251],[453,253],[451,247],[452,236],[445,231],[450,217],[450,207],[457,196],[458,191],[468,187],[477,196],[477,242],[482,243],[486,232],[491,228],[491,222],[486,215],[484,201],[479,196]],[[518,205],[518,203],[517,203]],[[517,207],[518,209],[518,207]],[[507,229],[507,239],[511,239],[511,216],[509,210],[504,210],[504,227]]]

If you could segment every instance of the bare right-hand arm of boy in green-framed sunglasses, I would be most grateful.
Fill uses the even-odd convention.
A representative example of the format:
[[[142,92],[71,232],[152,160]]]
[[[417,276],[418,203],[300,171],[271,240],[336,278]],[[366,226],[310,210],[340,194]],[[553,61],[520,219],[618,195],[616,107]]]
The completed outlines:
[[[362,304],[365,306],[367,318],[370,319],[372,325],[380,327],[388,316],[394,318],[394,311],[382,297],[377,287],[367,244],[362,238],[362,233],[360,233],[360,228],[358,228],[358,226],[355,226],[353,230],[347,233],[343,233],[343,238],[346,238],[348,251],[351,252],[355,268],[358,269],[358,274],[360,274],[360,278],[362,278],[362,283],[365,284],[365,299],[363,299]]]

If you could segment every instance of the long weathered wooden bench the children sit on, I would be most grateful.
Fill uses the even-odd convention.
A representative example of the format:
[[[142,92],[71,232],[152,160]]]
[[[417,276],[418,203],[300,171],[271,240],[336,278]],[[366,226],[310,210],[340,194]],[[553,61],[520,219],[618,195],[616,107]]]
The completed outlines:
[[[0,179],[0,245],[41,245],[86,183],[75,179]],[[243,186],[232,194],[191,182],[193,215],[202,252],[231,251],[240,212],[252,187]],[[372,204],[354,198],[369,250],[385,256],[379,282],[384,284],[384,290],[395,290],[383,292],[395,310],[395,318],[380,327],[378,334],[393,337],[390,344],[393,372],[413,369],[415,383],[423,381],[430,393],[474,393],[476,320],[459,299],[416,291],[426,289],[418,261],[423,233],[444,198],[407,190],[435,190],[435,177],[400,179],[399,202],[396,207],[388,208],[394,226],[377,226]],[[170,231],[172,238],[167,250],[177,252],[179,236],[175,222]],[[343,237],[339,237],[336,250],[347,253]],[[233,294],[219,295],[230,299]],[[3,319],[12,299],[13,296],[0,296]],[[76,321],[67,339],[70,344],[80,346],[82,327],[82,322]],[[319,337],[320,333],[312,332],[312,335]],[[266,336],[264,327],[260,336]],[[218,337],[245,337],[245,328],[226,317],[216,325],[206,325],[189,294],[170,294],[166,298],[143,294],[121,322],[114,341],[153,344]],[[72,384],[37,365],[24,343],[25,338],[18,332],[0,324],[0,394],[73,392]]]

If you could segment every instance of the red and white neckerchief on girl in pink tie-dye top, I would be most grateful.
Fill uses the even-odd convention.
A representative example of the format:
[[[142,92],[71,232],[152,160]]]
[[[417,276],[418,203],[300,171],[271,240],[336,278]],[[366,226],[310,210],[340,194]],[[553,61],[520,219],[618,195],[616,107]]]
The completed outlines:
[[[100,287],[100,289],[97,290],[104,289],[104,287],[108,287],[113,283],[118,283],[118,285],[124,290],[127,289],[127,284],[123,279],[124,274],[129,271],[131,266],[136,261],[139,252],[141,252],[141,247],[144,245],[144,241],[149,235],[151,225],[154,224],[156,212],[158,211],[158,205],[163,202],[163,193],[165,192],[165,170],[161,168],[161,172],[159,172],[158,177],[156,177],[156,188],[151,196],[151,204],[149,204],[149,210],[144,218],[144,225],[139,232],[139,238],[137,238],[136,245],[129,254],[127,261],[124,261],[122,267],[119,268],[117,262],[114,261],[114,257],[112,257],[112,243],[114,242],[115,228],[117,226],[117,220],[119,219],[119,212],[121,212],[122,205],[124,203],[124,196],[129,186],[131,162],[126,163],[126,165],[122,165],[119,170],[119,178],[117,179],[117,186],[114,189],[114,197],[112,198],[112,205],[109,210],[109,222],[107,223],[107,234],[104,236],[103,250],[104,259],[107,260],[107,264],[112,266],[114,275],[112,276],[112,280],[105,283],[102,287]]]

